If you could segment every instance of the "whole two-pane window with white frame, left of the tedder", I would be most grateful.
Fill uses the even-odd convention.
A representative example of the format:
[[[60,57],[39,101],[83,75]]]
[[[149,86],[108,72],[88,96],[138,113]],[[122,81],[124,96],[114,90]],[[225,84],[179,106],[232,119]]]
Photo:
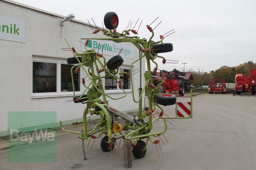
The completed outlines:
[[[71,68],[74,65],[66,61],[65,58],[33,56],[32,98],[73,95]],[[78,73],[75,73],[75,69],[72,70],[74,89],[76,94],[81,94],[80,69]]]

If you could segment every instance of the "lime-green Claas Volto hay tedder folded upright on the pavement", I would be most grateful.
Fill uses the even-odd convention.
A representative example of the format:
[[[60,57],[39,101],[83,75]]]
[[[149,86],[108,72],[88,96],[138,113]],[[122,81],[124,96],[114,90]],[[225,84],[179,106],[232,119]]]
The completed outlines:
[[[118,26],[118,16],[115,12],[108,12],[104,17],[104,24],[106,29],[97,28],[93,31],[94,34],[98,32],[102,32],[107,37],[105,38],[81,38],[86,40],[85,43],[85,52],[77,53],[74,48],[71,48],[68,44],[68,47],[72,51],[74,57],[69,57],[67,59],[68,64],[76,64],[71,68],[71,77],[73,83],[73,91],[74,91],[74,102],[75,103],[83,103],[86,104],[86,107],[83,112],[83,131],[76,132],[65,130],[60,121],[60,127],[62,130],[66,132],[71,132],[75,134],[79,134],[82,139],[83,152],[84,152],[84,140],[87,140],[89,137],[91,138],[99,138],[102,134],[105,134],[105,137],[101,139],[100,147],[103,151],[109,152],[114,149],[114,146],[117,142],[117,139],[125,139],[131,140],[133,139],[135,143],[132,143],[133,149],[132,154],[135,158],[143,158],[147,151],[148,143],[151,142],[153,144],[159,144],[159,140],[153,140],[153,137],[159,137],[162,135],[167,129],[166,119],[184,119],[190,118],[192,116],[192,93],[190,94],[191,100],[191,114],[187,117],[169,117],[164,114],[164,110],[160,105],[174,105],[176,104],[176,96],[173,94],[161,94],[160,86],[164,83],[165,79],[158,84],[153,84],[153,78],[151,77],[151,65],[150,61],[155,64],[155,68],[153,71],[157,70],[157,63],[154,61],[157,57],[163,59],[163,64],[166,63],[166,60],[163,56],[158,55],[159,53],[171,52],[173,50],[172,43],[163,43],[164,36],[160,35],[160,40],[157,42],[152,41],[151,39],[154,36],[153,29],[150,25],[147,25],[148,31],[151,33],[151,37],[147,41],[146,39],[140,39],[140,37],[124,37],[125,35],[129,35],[129,32],[137,34],[137,32],[133,29],[126,29],[119,33],[116,31]],[[153,22],[152,22],[153,23]],[[151,23],[151,24],[152,24]],[[127,27],[128,28],[128,27]],[[108,30],[107,30],[108,29]],[[113,30],[113,31],[112,31]],[[170,34],[169,34],[170,35]],[[168,36],[168,35],[167,35]],[[113,56],[110,60],[106,62],[106,58],[96,52],[94,49],[88,49],[87,44],[91,40],[107,40],[114,42],[131,42],[139,49],[139,57],[135,59],[131,65],[129,72],[119,72],[119,67],[123,63],[123,58],[120,55]],[[133,79],[132,79],[132,65],[136,62],[140,62],[140,75],[141,70],[141,59],[145,57],[147,63],[147,70],[144,74],[145,77],[145,85],[141,87],[141,76],[140,76],[140,88],[138,89],[139,98],[136,100],[134,98],[134,89],[133,89]],[[86,75],[89,77],[90,83],[88,85],[85,84],[85,79],[82,79],[82,83],[85,87],[85,91],[80,95],[75,95],[74,88],[74,75],[78,72],[78,69],[81,68]],[[75,70],[73,72],[73,70]],[[100,73],[103,72],[105,75],[102,77]],[[139,103],[138,113],[134,116],[128,115],[122,111],[117,110],[114,107],[108,105],[106,98],[110,98],[113,100],[118,100],[124,98],[126,96],[126,92],[122,86],[121,79],[118,75],[125,74],[127,77],[130,77],[131,87],[132,87],[132,97],[133,101]],[[102,85],[102,78],[113,78],[117,81],[120,89],[123,90],[124,96],[119,98],[113,98],[111,95],[106,94],[104,92],[104,88]],[[148,110],[142,109],[142,95],[146,90],[148,96]],[[189,103],[189,102],[188,102]],[[156,113],[156,107],[158,107],[161,112]],[[153,113],[156,113],[157,116],[152,116]],[[91,115],[100,115],[100,122],[95,125],[95,127],[91,130],[87,130],[86,125],[86,114],[90,113]],[[163,121],[164,129],[159,132],[151,132],[153,129],[153,123],[159,120]],[[125,123],[116,123],[116,121],[122,120]],[[94,134],[99,133],[98,136],[94,136]],[[142,139],[146,139],[144,142]],[[132,147],[131,146],[131,147]],[[160,146],[160,144],[159,144]],[[84,159],[85,152],[84,152]]]

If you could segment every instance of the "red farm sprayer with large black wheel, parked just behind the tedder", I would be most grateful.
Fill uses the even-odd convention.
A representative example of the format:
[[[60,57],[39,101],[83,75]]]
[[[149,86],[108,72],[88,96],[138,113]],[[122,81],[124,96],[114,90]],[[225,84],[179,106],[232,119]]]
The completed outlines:
[[[160,70],[160,76],[165,78],[163,90],[167,93],[179,91],[179,94],[184,96],[185,91],[190,89],[187,88],[187,80],[185,79],[186,73],[184,72],[180,72],[179,70],[173,70],[170,72]]]

